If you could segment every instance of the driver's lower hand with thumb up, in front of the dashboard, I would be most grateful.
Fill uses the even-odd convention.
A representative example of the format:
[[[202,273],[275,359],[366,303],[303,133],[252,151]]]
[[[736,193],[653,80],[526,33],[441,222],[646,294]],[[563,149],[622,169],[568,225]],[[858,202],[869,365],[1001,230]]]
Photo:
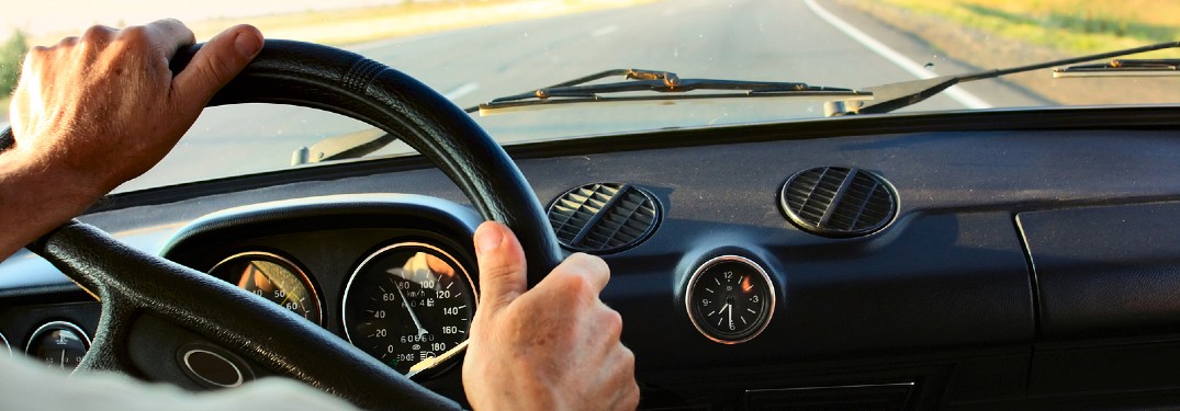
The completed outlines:
[[[476,410],[634,410],[635,356],[623,320],[598,293],[601,258],[573,254],[532,290],[520,243],[499,223],[476,231],[483,294],[463,383]]]

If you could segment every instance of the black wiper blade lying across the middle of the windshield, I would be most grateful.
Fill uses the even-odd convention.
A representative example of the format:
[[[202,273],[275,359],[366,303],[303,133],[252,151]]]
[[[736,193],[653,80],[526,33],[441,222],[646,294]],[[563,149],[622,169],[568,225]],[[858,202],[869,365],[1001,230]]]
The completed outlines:
[[[605,78],[622,77],[624,81],[588,84]],[[730,93],[683,94],[691,91],[728,91]],[[604,97],[603,94],[654,92],[660,95]],[[740,93],[733,93],[740,92]],[[806,82],[746,81],[715,79],[682,79],[676,73],[637,68],[608,69],[573,80],[542,87],[531,92],[492,99],[489,102],[467,107],[468,113],[499,108],[571,104],[590,101],[644,101],[673,99],[725,99],[748,97],[821,95],[867,99],[870,92],[851,88],[811,86]]]

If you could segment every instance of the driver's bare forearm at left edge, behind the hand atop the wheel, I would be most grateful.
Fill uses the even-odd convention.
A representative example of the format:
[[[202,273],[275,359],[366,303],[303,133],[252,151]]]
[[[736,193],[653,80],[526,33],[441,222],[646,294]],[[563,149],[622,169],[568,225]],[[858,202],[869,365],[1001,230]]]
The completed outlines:
[[[13,148],[0,154],[0,258],[77,217],[101,197],[100,188],[67,167]]]

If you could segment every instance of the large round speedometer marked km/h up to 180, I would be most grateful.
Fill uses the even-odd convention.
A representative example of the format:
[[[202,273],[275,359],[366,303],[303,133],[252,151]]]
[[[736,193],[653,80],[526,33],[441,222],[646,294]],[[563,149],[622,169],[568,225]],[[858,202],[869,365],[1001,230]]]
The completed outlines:
[[[366,258],[345,290],[353,345],[407,374],[434,374],[467,340],[477,296],[467,271],[428,244],[401,243]]]

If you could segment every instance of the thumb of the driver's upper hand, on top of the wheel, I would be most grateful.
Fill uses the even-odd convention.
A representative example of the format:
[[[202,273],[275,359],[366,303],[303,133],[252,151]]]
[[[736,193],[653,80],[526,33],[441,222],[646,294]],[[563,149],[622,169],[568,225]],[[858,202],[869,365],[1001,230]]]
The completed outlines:
[[[173,80],[175,97],[182,107],[201,110],[262,49],[262,33],[250,25],[221,32],[192,57]]]

